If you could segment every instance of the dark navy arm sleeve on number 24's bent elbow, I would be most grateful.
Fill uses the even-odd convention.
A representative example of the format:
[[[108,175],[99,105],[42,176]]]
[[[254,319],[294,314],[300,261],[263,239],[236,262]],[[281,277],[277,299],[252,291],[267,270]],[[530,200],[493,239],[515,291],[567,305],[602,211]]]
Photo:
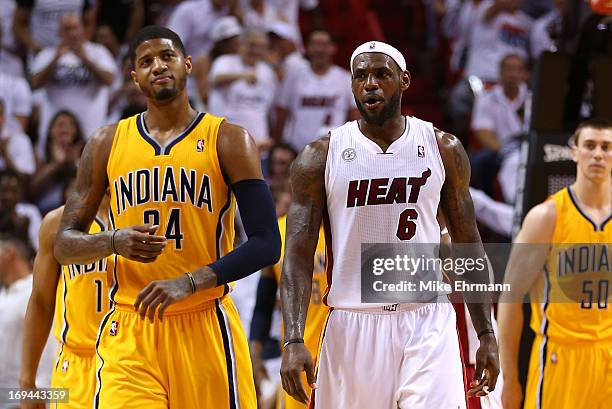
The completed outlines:
[[[266,182],[241,180],[232,185],[240,208],[240,217],[248,240],[238,248],[211,263],[217,285],[240,280],[280,258],[280,232],[276,209]]]

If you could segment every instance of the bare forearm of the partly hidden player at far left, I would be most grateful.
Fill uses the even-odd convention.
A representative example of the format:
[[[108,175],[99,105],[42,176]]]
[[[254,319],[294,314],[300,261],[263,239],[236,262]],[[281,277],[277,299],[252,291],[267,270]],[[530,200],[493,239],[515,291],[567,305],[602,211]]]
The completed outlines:
[[[47,338],[49,338],[53,323],[53,309],[53,305],[40,300],[36,294],[30,297],[23,329],[23,353],[19,374],[19,385],[22,388],[36,386],[36,372]]]

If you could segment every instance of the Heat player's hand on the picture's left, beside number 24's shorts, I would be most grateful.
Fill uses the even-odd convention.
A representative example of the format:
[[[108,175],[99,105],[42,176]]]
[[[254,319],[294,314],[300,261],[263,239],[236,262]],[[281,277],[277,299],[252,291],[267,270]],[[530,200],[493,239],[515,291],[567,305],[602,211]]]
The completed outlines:
[[[306,380],[310,387],[314,389],[314,362],[310,351],[304,344],[287,345],[283,351],[283,361],[281,363],[283,389],[293,399],[306,404],[309,398],[302,385],[302,371],[306,371]]]

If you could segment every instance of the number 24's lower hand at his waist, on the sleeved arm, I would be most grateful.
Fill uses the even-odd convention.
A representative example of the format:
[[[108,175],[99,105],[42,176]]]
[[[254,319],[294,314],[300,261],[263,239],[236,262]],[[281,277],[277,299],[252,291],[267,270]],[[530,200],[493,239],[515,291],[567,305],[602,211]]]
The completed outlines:
[[[191,284],[187,276],[171,278],[168,280],[152,281],[140,291],[134,301],[134,310],[140,309],[140,318],[153,322],[155,311],[161,320],[164,311],[169,305],[191,295]]]

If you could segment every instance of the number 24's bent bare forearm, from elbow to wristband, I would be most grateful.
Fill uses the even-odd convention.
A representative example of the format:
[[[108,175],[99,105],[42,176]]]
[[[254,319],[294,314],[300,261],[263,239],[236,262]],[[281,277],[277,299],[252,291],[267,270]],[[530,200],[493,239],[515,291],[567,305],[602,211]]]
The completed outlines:
[[[60,264],[93,263],[115,254],[112,236],[112,230],[96,234],[83,233],[71,228],[60,230],[53,252]]]

